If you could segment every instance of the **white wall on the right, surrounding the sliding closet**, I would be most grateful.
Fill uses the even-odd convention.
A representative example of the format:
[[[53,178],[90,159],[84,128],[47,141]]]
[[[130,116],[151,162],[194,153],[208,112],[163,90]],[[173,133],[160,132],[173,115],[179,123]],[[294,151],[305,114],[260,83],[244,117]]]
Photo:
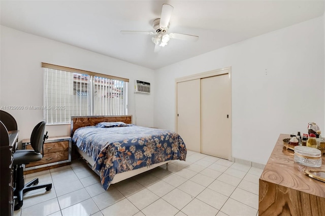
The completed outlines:
[[[325,132],[323,28],[315,18],[156,70],[154,125],[175,130],[175,78],[231,66],[233,157],[266,164],[280,133]]]

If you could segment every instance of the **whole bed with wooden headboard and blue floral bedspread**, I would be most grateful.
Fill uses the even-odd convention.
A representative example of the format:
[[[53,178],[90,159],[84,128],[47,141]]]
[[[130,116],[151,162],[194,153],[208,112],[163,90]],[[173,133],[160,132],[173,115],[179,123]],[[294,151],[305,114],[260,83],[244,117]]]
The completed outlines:
[[[171,160],[186,160],[185,143],[176,132],[133,125],[132,116],[73,116],[71,136],[105,190]]]

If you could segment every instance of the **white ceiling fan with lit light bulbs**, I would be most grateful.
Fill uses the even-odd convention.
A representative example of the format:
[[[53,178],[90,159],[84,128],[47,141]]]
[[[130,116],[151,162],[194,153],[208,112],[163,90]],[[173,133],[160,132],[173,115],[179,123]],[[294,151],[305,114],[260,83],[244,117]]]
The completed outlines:
[[[174,7],[164,4],[161,9],[160,18],[153,20],[152,27],[154,31],[120,31],[122,34],[147,34],[154,35],[151,40],[155,44],[154,52],[158,52],[160,47],[165,47],[170,39],[180,39],[186,41],[197,41],[199,39],[196,35],[180,34],[180,33],[167,33],[170,26],[170,19]]]

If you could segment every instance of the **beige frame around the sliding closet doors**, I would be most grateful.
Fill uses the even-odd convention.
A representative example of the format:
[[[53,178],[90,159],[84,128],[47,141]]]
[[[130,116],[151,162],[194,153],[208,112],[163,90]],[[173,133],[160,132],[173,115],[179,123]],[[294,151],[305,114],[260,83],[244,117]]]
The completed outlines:
[[[231,102],[232,101],[232,67],[231,66],[175,79],[175,130],[176,130],[176,132],[177,132],[177,83],[190,81],[190,80],[209,78],[209,77],[214,77],[214,76],[218,76],[218,75],[226,75],[226,74],[228,74],[228,76],[229,76],[229,86],[230,86],[230,95],[231,95],[230,96],[231,97],[230,104],[229,104],[230,105],[229,120],[230,120],[230,134],[232,134],[232,104],[231,104],[232,103]],[[200,113],[200,118],[201,118],[201,113]],[[231,152],[230,152],[228,160],[231,161],[233,159],[232,158],[232,135],[230,137],[230,145],[231,145],[231,148],[230,148]],[[200,143],[200,152],[201,152],[201,143]]]

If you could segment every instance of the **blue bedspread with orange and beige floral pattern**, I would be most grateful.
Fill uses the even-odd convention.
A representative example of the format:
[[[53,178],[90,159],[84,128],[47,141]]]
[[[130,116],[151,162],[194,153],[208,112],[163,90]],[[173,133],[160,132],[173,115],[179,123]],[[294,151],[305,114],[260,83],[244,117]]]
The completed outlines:
[[[127,125],[127,127],[78,128],[72,141],[95,161],[101,182],[108,189],[116,173],[168,160],[186,159],[183,139],[170,130]]]

